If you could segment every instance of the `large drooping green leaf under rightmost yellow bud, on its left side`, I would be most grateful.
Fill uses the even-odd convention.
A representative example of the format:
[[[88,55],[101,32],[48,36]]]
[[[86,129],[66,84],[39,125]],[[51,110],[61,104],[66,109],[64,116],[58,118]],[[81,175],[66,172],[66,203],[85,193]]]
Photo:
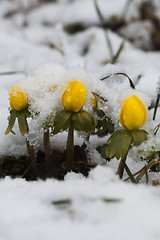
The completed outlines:
[[[132,143],[132,136],[126,130],[117,130],[108,139],[109,146],[106,151],[108,158],[116,157],[117,159],[124,159],[128,153]]]

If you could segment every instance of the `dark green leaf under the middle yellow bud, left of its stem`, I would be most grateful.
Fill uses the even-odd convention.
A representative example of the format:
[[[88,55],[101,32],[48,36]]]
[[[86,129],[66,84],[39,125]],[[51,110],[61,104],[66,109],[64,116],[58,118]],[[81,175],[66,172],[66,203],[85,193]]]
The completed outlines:
[[[66,130],[69,127],[69,119],[72,115],[72,112],[62,110],[57,113],[54,118],[54,129],[52,130],[53,134],[57,134],[60,130]]]

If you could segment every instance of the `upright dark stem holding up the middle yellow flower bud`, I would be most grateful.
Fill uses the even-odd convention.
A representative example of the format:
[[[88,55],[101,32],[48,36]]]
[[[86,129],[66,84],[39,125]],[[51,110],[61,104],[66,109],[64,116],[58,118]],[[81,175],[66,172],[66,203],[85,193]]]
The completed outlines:
[[[70,118],[68,138],[66,144],[66,171],[70,172],[73,167],[74,160],[74,123]]]

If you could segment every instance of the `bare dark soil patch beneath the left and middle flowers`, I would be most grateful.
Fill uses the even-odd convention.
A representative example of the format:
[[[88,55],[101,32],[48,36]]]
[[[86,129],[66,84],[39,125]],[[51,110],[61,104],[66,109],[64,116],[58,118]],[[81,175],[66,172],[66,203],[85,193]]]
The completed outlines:
[[[65,153],[53,150],[51,156],[45,159],[45,154],[37,152],[36,164],[31,165],[27,156],[15,158],[6,156],[0,159],[0,178],[10,176],[12,178],[22,177],[27,181],[37,179],[56,178],[63,180],[66,175],[65,170]],[[85,145],[74,147],[74,163],[72,171],[82,173],[88,176],[90,170],[96,165],[90,163],[87,159],[87,149]]]

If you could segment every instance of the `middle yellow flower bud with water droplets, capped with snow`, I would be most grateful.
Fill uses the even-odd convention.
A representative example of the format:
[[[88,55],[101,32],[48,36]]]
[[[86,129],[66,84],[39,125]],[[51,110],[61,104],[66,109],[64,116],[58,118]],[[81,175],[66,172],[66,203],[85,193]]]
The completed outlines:
[[[83,108],[86,101],[86,88],[79,81],[70,81],[64,91],[61,102],[62,105],[70,111],[78,112]]]

